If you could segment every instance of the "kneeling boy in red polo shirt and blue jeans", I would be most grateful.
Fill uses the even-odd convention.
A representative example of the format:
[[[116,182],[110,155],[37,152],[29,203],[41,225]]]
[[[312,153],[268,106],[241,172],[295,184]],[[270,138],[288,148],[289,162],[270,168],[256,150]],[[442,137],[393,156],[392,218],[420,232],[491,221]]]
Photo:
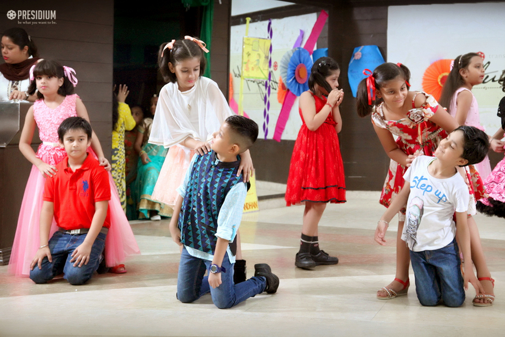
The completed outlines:
[[[91,132],[81,117],[67,118],[58,128],[68,156],[45,181],[40,247],[30,266],[35,283],[63,272],[70,284],[83,284],[98,268],[110,227],[111,187],[107,171],[87,152]],[[49,239],[53,216],[59,230]]]

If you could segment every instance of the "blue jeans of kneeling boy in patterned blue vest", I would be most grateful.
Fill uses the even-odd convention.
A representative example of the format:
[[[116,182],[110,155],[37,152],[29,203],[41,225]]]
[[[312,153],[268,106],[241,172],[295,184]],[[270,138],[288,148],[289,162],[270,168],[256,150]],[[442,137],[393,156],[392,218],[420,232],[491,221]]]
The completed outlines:
[[[249,297],[263,293],[267,286],[267,280],[263,276],[251,277],[245,282],[234,284],[234,264],[230,263],[226,253],[221,264],[226,269],[226,272],[221,272],[222,283],[217,288],[212,288],[209,285],[208,277],[204,277],[211,264],[212,261],[195,258],[189,255],[185,247],[182,248],[177,275],[177,298],[179,301],[191,303],[210,292],[212,302],[216,307],[227,309]]]

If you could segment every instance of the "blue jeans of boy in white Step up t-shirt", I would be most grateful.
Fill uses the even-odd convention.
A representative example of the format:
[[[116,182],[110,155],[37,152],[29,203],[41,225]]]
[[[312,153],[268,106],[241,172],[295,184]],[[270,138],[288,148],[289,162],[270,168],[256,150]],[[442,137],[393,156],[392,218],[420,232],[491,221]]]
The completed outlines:
[[[422,305],[435,306],[443,300],[448,307],[459,307],[465,302],[456,239],[434,251],[410,251],[410,256],[416,276],[417,298]]]

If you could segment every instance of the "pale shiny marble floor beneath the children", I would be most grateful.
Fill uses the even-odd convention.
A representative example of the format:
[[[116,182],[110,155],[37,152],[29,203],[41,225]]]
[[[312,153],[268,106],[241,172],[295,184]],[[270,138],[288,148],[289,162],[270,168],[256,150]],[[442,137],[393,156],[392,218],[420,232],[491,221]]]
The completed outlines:
[[[294,266],[303,208],[261,201],[259,212],[243,217],[243,255],[249,276],[255,263],[270,264],[279,290],[227,310],[217,309],[210,296],[192,304],[177,301],[179,251],[168,220],[131,222],[142,254],[127,261],[126,274],[95,275],[82,286],[63,279],[36,285],[0,266],[0,336],[505,335],[503,220],[476,216],[496,279],[493,306],[474,307],[471,286],[460,308],[422,307],[414,284],[408,296],[380,301],[377,289],[394,277],[396,232],[391,226],[386,247],[374,243],[384,210],[378,199],[379,192],[348,191],[346,204],[327,207],[321,247],[340,262],[312,271]]]

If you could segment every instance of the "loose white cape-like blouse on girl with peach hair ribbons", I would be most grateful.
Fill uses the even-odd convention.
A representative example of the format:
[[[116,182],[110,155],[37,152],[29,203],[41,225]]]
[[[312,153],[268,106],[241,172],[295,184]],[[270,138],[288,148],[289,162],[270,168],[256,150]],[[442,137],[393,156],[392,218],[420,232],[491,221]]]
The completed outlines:
[[[177,83],[168,83],[160,91],[149,143],[169,148],[188,136],[207,141],[231,115],[223,93],[210,78],[199,77],[184,92]]]

